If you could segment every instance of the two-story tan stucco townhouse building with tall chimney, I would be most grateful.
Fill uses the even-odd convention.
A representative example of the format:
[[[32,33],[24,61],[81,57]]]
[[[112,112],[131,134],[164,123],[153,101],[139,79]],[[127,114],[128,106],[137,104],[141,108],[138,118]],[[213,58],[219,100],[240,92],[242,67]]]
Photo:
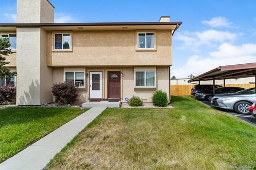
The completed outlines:
[[[139,96],[155,90],[170,97],[172,35],[181,22],[53,23],[47,0],[18,0],[17,24],[0,24],[17,71],[17,105],[51,103],[52,84],[73,82],[80,103]]]

